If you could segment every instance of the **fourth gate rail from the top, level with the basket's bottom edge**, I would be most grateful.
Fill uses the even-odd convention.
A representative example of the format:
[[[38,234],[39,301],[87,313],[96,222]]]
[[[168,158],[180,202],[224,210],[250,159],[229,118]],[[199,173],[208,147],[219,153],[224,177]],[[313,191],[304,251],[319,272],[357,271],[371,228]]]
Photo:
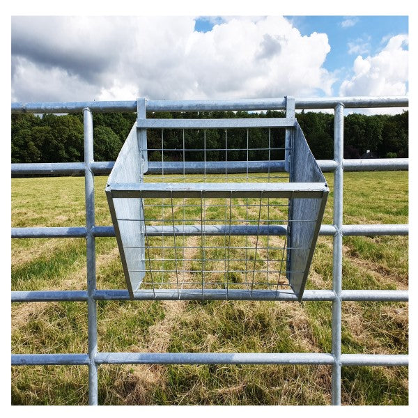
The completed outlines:
[[[231,292],[231,291],[230,291]],[[201,293],[200,293],[201,296]],[[234,298],[235,296],[235,298]],[[95,300],[130,300],[127,291],[120,290],[100,290],[95,291],[93,295]],[[177,291],[167,291],[150,295],[149,291],[138,291],[135,300],[178,300]],[[210,293],[208,299],[226,300],[225,293]],[[304,301],[332,301],[335,299],[335,293],[327,290],[307,290],[304,291],[302,300]],[[88,300],[86,291],[13,291],[12,302],[60,302],[72,301],[83,302]],[[185,289],[180,293],[180,300],[201,300],[196,297],[196,289]],[[232,293],[228,300],[242,300],[240,293]],[[253,291],[251,300],[297,300],[289,293],[276,293],[276,291]],[[408,291],[341,291],[341,300],[357,302],[408,302]]]

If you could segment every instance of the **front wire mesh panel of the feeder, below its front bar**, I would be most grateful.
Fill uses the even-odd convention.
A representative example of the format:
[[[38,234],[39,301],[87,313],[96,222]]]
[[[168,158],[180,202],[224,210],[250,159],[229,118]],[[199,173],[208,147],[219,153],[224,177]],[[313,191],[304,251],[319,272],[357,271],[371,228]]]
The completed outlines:
[[[141,288],[288,288],[288,199],[164,200],[142,199],[144,219],[132,220],[145,225]]]

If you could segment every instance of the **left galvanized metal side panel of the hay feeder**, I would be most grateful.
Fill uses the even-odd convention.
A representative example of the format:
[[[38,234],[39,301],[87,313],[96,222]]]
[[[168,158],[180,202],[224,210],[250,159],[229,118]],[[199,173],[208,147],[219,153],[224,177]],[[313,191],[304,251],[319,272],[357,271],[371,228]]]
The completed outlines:
[[[138,183],[142,180],[139,132],[134,125],[112,169],[107,187],[107,200],[114,224],[116,239],[130,296],[134,296],[145,275],[145,224],[125,222],[121,219],[144,219],[142,199],[114,197],[111,183]],[[135,270],[135,271],[132,271]]]

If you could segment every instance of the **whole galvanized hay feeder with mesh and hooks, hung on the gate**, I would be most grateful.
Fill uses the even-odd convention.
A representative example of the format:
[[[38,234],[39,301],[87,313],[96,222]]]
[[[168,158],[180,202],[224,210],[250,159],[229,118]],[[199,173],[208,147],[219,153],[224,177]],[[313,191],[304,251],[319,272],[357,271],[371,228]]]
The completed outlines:
[[[171,286],[176,286],[177,289],[183,288],[184,286],[196,286],[196,276],[199,275],[201,277],[202,300],[210,293],[212,288],[217,288],[218,286],[226,286],[226,297],[228,297],[230,286],[232,288],[245,287],[248,293],[247,297],[251,298],[254,286],[261,286],[261,288],[276,286],[278,290],[279,288],[288,285],[291,286],[298,298],[301,299],[311,259],[314,254],[316,238],[320,229],[320,222],[323,217],[329,189],[326,185],[323,173],[320,171],[311,150],[309,150],[307,140],[294,118],[294,100],[286,98],[286,116],[289,116],[288,118],[247,119],[147,119],[144,100],[138,100],[138,103],[141,103],[141,107],[138,105],[139,116],[136,123],[138,138],[136,141],[132,141],[135,130],[134,125],[128,139],[125,141],[121,153],[118,155],[114,168],[107,180],[106,188],[111,218],[114,224],[123,263],[125,280],[132,299],[134,298],[134,292],[139,290],[139,286],[144,288],[149,282],[150,286],[152,286],[153,293],[156,294],[160,293],[161,289],[171,288]],[[221,142],[217,141],[216,144],[212,143],[210,147],[207,146],[206,128],[234,127],[287,127],[287,129],[284,132],[284,142],[279,137],[277,131],[274,131],[274,135],[272,135],[272,131],[269,129],[268,131],[264,131],[265,134],[268,133],[268,144],[260,137],[257,137],[257,143],[251,143],[251,146],[250,130],[247,129],[246,147],[242,143],[239,146],[231,146],[231,142],[228,141],[228,131],[224,130],[224,146],[222,146],[222,137],[218,138],[218,141]],[[141,132],[144,135],[142,141],[144,141],[144,144],[146,143],[144,128],[153,129],[153,137],[150,139],[150,143],[153,145],[151,146],[152,148],[147,149],[147,147],[144,146],[139,150],[138,139]],[[155,128],[158,128],[159,130],[155,131]],[[179,132],[178,128],[182,128],[183,147],[172,148],[173,145],[165,146],[167,142],[164,141],[163,128],[176,128],[176,131],[174,132]],[[201,128],[203,128],[203,138],[201,137],[201,134],[199,138]],[[190,144],[190,142],[188,142],[187,146],[185,142],[185,129],[194,129],[193,143]],[[160,145],[155,137],[157,132],[160,132]],[[257,130],[256,132],[260,131]],[[223,136],[223,132],[221,135]],[[203,139],[203,142],[201,139]],[[199,144],[199,142],[201,143]],[[134,174],[134,172],[137,171],[137,167],[140,165],[138,162],[141,159],[145,160],[147,158],[147,156],[144,155],[144,150],[147,150],[147,153],[153,151],[153,158],[161,160],[162,175],[157,177],[150,176],[151,181],[157,180],[158,183],[145,182],[146,176],[144,176],[143,180]],[[251,153],[252,157],[252,153],[254,153],[255,150],[265,151],[264,155],[268,164],[264,163],[263,165],[267,166],[267,170],[263,177],[254,176],[254,178],[250,178],[249,156]],[[271,158],[272,152],[277,153],[278,150],[281,150],[282,152],[284,150],[285,158],[286,156],[288,157],[286,160],[288,167],[285,167],[285,170],[290,170],[289,177],[271,175],[270,162],[273,164],[277,163],[274,158]],[[203,152],[203,155],[200,155],[201,157],[204,157],[203,164],[194,161],[187,161],[187,163],[192,163],[195,166],[199,164],[198,173],[203,173],[203,178],[194,177],[194,183],[186,183],[186,181],[189,181],[189,178],[185,177],[185,155],[189,155],[191,152],[196,153],[196,151]],[[211,183],[212,180],[207,177],[208,172],[206,167],[208,164],[206,155],[213,151],[217,152],[217,158],[224,153],[224,167],[217,162],[218,168],[222,169],[220,172],[224,174],[224,177],[222,176],[221,180],[222,183]],[[233,172],[240,171],[246,173],[247,176],[228,176],[228,174],[231,174],[227,167],[230,151],[234,151],[235,153],[240,152],[241,154],[242,151],[244,151],[244,153],[246,153],[247,162],[238,162],[238,164],[240,164],[239,170],[237,167],[238,164],[235,162],[235,170],[233,170]],[[183,158],[183,173],[180,171],[180,176],[167,176],[166,164],[164,164],[164,153],[167,155],[167,153],[170,152],[175,152],[178,157]],[[194,155],[194,158],[196,158],[196,155]],[[254,167],[255,164],[261,162],[251,161],[251,163]],[[180,161],[175,164],[177,169],[181,168],[182,163]],[[173,165],[174,164],[171,164],[171,167],[173,167]],[[148,167],[149,164],[147,164],[147,169]],[[145,171],[146,169],[144,169],[144,173]],[[259,170],[257,171],[259,172]],[[203,181],[203,183],[199,183],[199,180]],[[233,181],[232,183],[231,180]],[[241,181],[240,183],[236,183],[236,180]],[[244,180],[244,183],[242,183],[242,180]],[[288,180],[290,181],[289,183],[283,183],[283,180],[285,182],[288,182]],[[219,178],[215,177],[215,181],[219,182]],[[254,183],[254,181],[256,181],[256,183]],[[196,214],[193,214],[190,218],[190,208],[199,206],[196,205],[196,203],[192,203],[192,206],[190,206],[192,198],[200,199],[200,221],[199,219],[195,219],[196,217],[199,217]],[[137,199],[137,203],[132,201],[132,199]],[[148,202],[148,199],[153,199],[153,203],[144,203]],[[169,203],[164,203],[164,199],[168,199]],[[215,199],[216,202],[214,203],[214,200],[206,201],[206,199]],[[225,201],[220,201],[219,199],[225,199]],[[235,201],[236,199],[246,200],[239,201],[237,205],[237,203],[233,203],[233,199],[235,199]],[[276,203],[273,203],[273,200],[271,199],[276,199],[274,200]],[[286,200],[278,204],[277,199]],[[208,202],[208,204],[206,202]],[[116,206],[123,206],[125,210],[118,210]],[[219,208],[222,206],[224,206],[225,210],[224,215],[219,214]],[[233,211],[232,206],[234,206]],[[273,209],[270,210],[270,206],[276,211],[278,209],[284,210],[286,207],[286,212],[288,212],[288,214],[286,213],[286,215],[284,215],[281,213],[278,219],[276,219],[274,215],[270,218],[270,214],[274,213]],[[281,206],[282,208],[278,208],[278,206]],[[132,210],[130,210],[129,207],[131,207]],[[247,215],[236,215],[235,211],[242,207],[245,208]],[[251,222],[256,221],[256,219],[249,219],[249,207],[258,208],[258,225],[256,228],[254,228],[254,226],[251,228]],[[137,208],[138,213],[135,213],[134,208]],[[150,208],[152,208],[154,212]],[[156,208],[161,210],[161,215],[157,215],[157,212],[155,212]],[[292,210],[287,211],[288,208],[291,208]],[[167,215],[164,215],[164,209],[168,209],[168,211],[171,212],[170,219],[167,219]],[[213,219],[214,209],[217,213],[215,219]],[[262,210],[263,217],[261,217]],[[139,211],[143,214],[139,213]],[[176,219],[174,212],[176,212]],[[178,212],[183,212],[183,215],[178,215]],[[207,217],[208,212],[209,217]],[[234,217],[232,219],[233,212]],[[254,218],[254,214],[251,215],[251,217]],[[208,219],[210,220],[208,221]],[[171,222],[172,227],[167,227],[166,222]],[[183,229],[181,225],[182,222]],[[198,222],[201,223],[201,227],[197,224]],[[208,225],[208,222],[218,222],[220,225]],[[274,234],[286,235],[280,244],[277,243],[279,246],[282,245],[282,250],[280,250],[280,253],[282,254],[281,258],[280,256],[269,257],[269,250],[270,254],[272,252],[269,247],[270,232],[273,232],[273,229],[269,226],[272,226],[272,224],[284,223],[287,224],[286,233]],[[242,232],[232,233],[233,229],[236,231],[237,224],[240,224],[238,229]],[[247,228],[242,227],[245,224]],[[172,236],[173,240],[168,243],[166,240],[164,243],[163,239],[162,242],[158,243],[157,247],[155,247],[152,242],[149,243],[149,237],[155,235],[151,235],[148,231],[150,229],[155,231],[156,226],[158,229],[156,232],[161,232],[160,235],[162,238]],[[268,228],[265,228],[265,226],[268,226]],[[210,233],[206,233],[207,227]],[[282,228],[285,230],[284,227]],[[187,232],[185,231],[186,229]],[[265,233],[260,233],[261,229],[265,230]],[[183,246],[179,246],[178,244],[180,244],[180,242],[176,240],[179,230],[180,236],[183,237]],[[167,234],[165,233],[166,231]],[[249,247],[248,235],[251,235],[251,232],[253,233],[253,236],[256,237],[254,247],[252,245]],[[199,233],[201,235],[200,246],[196,247],[196,249],[199,251],[199,254],[201,254],[201,258],[197,260],[197,262],[201,264],[200,271],[196,269],[196,266],[188,266],[187,262],[189,260],[187,260],[184,255],[185,248],[189,248],[189,242],[185,241],[185,237],[191,235],[198,236]],[[216,247],[208,247],[205,244],[205,237],[210,235],[223,235],[224,244],[221,245],[221,247],[219,247],[220,244],[217,244]],[[239,243],[235,243],[232,251],[234,254],[237,254],[237,251],[241,251],[241,253],[244,254],[243,256],[231,256],[231,245],[226,244],[226,241],[231,242],[231,235],[247,235],[246,240],[240,240]],[[267,242],[263,244],[266,246],[265,248],[263,248],[263,245],[259,245],[258,240],[258,237],[263,235],[267,236]],[[135,242],[135,240],[139,239],[146,241],[147,244]],[[258,257],[258,265],[256,268],[256,261],[254,261],[254,263],[248,263],[248,257],[250,256],[250,258],[252,258],[254,256],[254,260],[256,260],[257,253],[258,255],[260,254],[258,251],[259,247],[261,247],[260,251],[267,249],[267,256],[262,258]],[[212,254],[215,252],[213,251],[214,248],[216,248],[217,255]],[[219,248],[224,249],[224,256],[219,255]],[[165,250],[169,251],[169,253],[170,251],[173,251],[173,254],[167,258],[167,256],[164,255]],[[286,260],[284,259],[285,254],[287,255]],[[230,268],[230,260],[239,261],[236,259],[237,257],[245,257],[245,269],[243,267],[235,267],[235,270],[234,268]],[[211,261],[224,262],[224,267],[219,267],[219,265],[216,265],[215,267]],[[242,259],[242,261],[244,261],[244,259]],[[208,265],[211,265],[212,267],[207,267]],[[190,270],[191,268],[192,270]],[[214,268],[215,270],[213,270]],[[168,273],[171,273],[171,276]],[[286,281],[281,281],[281,273],[283,273],[284,277],[286,274],[288,279],[287,284]],[[230,274],[235,274],[235,277],[238,277],[238,279],[235,278],[231,284],[229,284]],[[170,279],[173,275],[176,276],[175,282]],[[207,279],[205,280],[205,278]],[[146,279],[148,279],[148,281]],[[208,284],[208,282],[210,284]],[[242,299],[245,299],[245,291],[242,293]]]

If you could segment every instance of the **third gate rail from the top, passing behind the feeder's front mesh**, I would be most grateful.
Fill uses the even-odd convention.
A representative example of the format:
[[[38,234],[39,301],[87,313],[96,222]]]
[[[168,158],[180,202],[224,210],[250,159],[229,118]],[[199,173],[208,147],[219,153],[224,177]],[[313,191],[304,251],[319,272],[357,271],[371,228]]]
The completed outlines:
[[[233,226],[231,225],[232,235],[247,235],[245,230],[248,229],[248,235],[254,233],[256,226]],[[220,234],[220,226],[206,225],[205,231],[207,235],[222,235]],[[183,232],[182,232],[183,230]],[[282,235],[284,226],[271,225],[260,226],[262,235],[270,233],[272,235]],[[320,227],[319,235],[334,235],[334,225],[322,225]],[[370,224],[370,225],[343,225],[341,229],[344,236],[350,235],[408,235],[408,224]],[[93,235],[95,237],[114,237],[115,231],[113,226],[94,226]],[[229,233],[229,226],[227,227]],[[174,235],[174,230],[169,226],[147,226],[148,235],[152,236],[167,236]],[[201,234],[200,225],[179,226],[176,229],[176,235],[195,235]],[[75,227],[45,227],[45,228],[12,228],[11,238],[84,238],[86,236],[86,229],[84,226]]]

